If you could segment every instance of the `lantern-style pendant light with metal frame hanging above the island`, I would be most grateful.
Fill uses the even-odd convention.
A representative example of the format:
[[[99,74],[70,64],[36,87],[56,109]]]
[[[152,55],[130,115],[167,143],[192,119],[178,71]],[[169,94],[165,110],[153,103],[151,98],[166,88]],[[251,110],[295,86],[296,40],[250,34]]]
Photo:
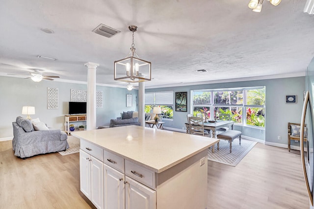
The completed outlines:
[[[132,31],[132,45],[130,53],[121,60],[114,61],[114,80],[129,83],[150,81],[152,78],[151,62],[140,59],[134,48],[134,32],[137,26],[130,25]]]

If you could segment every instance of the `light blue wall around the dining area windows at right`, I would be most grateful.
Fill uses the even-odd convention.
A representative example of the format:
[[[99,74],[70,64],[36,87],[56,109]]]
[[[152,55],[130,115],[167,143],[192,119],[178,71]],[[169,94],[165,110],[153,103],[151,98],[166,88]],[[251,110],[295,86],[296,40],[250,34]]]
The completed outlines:
[[[173,91],[187,92],[187,99],[190,101],[190,90],[220,89],[250,86],[266,87],[266,112],[265,130],[252,129],[244,126],[235,127],[241,130],[243,135],[267,142],[288,144],[288,122],[300,122],[302,113],[303,91],[305,89],[305,77],[266,79],[242,82],[216,83],[205,85],[193,85],[182,87],[147,89],[145,92]],[[297,104],[286,104],[286,95],[297,95]],[[175,104],[175,101],[174,101]],[[174,107],[175,108],[175,107]],[[173,120],[166,121],[164,126],[185,129],[186,114],[190,113],[190,104],[187,112],[174,111]],[[281,140],[277,137],[281,136]],[[294,142],[291,142],[293,144]]]

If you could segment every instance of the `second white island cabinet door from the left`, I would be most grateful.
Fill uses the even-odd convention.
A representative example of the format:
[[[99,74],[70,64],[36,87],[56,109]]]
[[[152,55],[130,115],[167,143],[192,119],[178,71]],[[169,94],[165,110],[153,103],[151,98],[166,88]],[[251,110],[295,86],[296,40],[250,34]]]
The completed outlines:
[[[104,208],[104,168],[103,162],[91,158],[91,201],[98,209]]]

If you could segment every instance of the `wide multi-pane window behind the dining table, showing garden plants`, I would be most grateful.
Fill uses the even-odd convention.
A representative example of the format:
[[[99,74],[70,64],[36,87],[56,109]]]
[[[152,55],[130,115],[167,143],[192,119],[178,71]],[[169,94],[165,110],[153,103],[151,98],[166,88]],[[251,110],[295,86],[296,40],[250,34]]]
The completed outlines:
[[[238,124],[265,127],[265,87],[191,91],[194,116],[230,114]]]

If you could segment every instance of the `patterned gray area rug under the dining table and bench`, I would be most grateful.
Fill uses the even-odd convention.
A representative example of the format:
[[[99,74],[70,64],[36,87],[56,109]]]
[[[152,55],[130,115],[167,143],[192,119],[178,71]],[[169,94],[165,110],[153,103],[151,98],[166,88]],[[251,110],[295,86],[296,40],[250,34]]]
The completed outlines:
[[[221,139],[219,142],[219,150],[217,150],[217,144],[215,144],[214,153],[211,152],[211,147],[208,149],[208,160],[235,166],[255,144],[257,144],[256,141],[241,139],[241,145],[239,145],[239,139],[237,138],[232,142],[232,153],[230,153],[229,141]]]

